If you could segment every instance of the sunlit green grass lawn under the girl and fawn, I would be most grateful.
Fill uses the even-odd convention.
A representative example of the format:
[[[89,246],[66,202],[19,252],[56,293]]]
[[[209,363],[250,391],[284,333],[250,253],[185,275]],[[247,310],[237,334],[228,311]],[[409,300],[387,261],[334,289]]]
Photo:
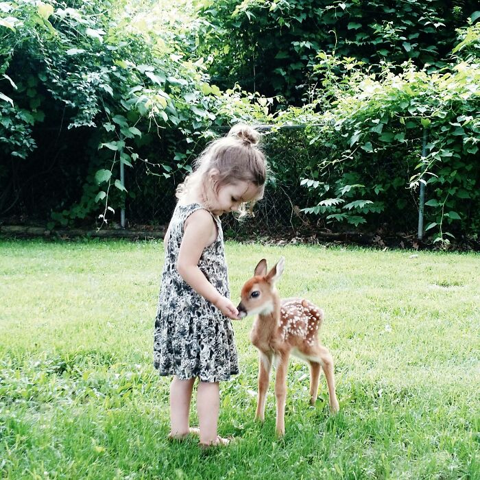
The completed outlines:
[[[152,367],[161,242],[0,241],[0,475],[66,479],[480,478],[477,254],[227,244],[232,298],[259,259],[326,312],[341,411],[289,366],[286,435],[253,421],[252,317],[221,384],[228,448],[167,441],[169,379]],[[194,406],[195,407],[195,406]],[[197,422],[195,413],[192,423]]]

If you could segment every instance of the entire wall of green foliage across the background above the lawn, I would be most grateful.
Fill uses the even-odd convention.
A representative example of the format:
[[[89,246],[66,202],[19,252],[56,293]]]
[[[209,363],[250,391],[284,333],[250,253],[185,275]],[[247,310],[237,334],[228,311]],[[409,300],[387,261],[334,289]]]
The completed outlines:
[[[102,223],[130,200],[132,219],[163,223],[195,155],[248,121],[278,125],[260,221],[412,232],[423,183],[429,234],[476,235],[474,7],[0,2],[0,215]]]

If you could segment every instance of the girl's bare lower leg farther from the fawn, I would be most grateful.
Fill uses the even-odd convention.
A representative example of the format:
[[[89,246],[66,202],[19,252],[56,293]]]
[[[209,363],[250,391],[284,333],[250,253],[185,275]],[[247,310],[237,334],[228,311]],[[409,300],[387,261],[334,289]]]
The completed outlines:
[[[179,380],[173,376],[170,384],[171,437],[183,437],[189,433],[189,413],[195,379]]]

